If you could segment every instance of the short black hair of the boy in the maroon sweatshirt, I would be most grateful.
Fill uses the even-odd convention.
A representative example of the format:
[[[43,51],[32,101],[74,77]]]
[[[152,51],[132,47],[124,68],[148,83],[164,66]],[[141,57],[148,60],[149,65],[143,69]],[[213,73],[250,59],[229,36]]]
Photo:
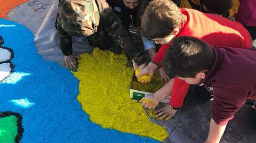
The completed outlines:
[[[182,36],[174,40],[162,61],[170,78],[195,78],[198,72],[211,69],[212,48],[197,38]]]

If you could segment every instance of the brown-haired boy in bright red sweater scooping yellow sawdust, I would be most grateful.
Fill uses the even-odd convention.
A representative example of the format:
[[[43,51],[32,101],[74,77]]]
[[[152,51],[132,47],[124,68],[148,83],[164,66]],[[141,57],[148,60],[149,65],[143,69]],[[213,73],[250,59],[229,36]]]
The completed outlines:
[[[155,0],[149,3],[141,19],[142,35],[152,39],[156,44],[163,44],[148,66],[140,71],[138,77],[148,74],[153,77],[154,71],[161,67],[167,48],[173,40],[181,36],[191,36],[206,41],[209,45],[219,45],[234,48],[251,48],[252,40],[250,33],[239,22],[230,21],[220,16],[202,13],[191,9],[179,9],[171,0]],[[142,81],[148,82],[148,81]],[[170,105],[156,111],[156,117],[170,119],[182,106],[187,94],[189,84],[184,80],[171,79],[153,95],[144,98],[161,100],[170,96]],[[146,108],[153,105],[142,103]]]

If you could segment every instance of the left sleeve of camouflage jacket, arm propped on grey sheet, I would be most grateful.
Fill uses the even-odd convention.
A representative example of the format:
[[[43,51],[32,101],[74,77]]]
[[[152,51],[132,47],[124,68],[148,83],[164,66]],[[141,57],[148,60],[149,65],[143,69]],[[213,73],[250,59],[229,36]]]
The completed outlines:
[[[65,56],[72,55],[73,54],[72,38],[60,27],[60,24],[58,24],[58,15],[57,15],[55,27],[58,30],[58,35],[59,35],[59,40],[60,40],[60,48],[61,48],[63,55],[65,55]]]

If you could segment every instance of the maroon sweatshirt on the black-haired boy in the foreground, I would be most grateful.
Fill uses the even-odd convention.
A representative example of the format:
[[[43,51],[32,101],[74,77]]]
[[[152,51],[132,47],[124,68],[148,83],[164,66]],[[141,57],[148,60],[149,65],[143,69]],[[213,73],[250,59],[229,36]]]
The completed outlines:
[[[213,65],[199,86],[213,94],[212,119],[227,124],[246,100],[256,100],[256,51],[213,46]]]

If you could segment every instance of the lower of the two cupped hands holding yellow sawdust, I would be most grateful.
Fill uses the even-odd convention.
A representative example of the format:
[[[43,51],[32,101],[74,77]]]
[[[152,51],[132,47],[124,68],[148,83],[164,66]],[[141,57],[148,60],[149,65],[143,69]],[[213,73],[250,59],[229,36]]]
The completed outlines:
[[[159,101],[155,99],[153,95],[143,97],[140,101],[142,106],[149,109],[154,109],[159,104]]]

